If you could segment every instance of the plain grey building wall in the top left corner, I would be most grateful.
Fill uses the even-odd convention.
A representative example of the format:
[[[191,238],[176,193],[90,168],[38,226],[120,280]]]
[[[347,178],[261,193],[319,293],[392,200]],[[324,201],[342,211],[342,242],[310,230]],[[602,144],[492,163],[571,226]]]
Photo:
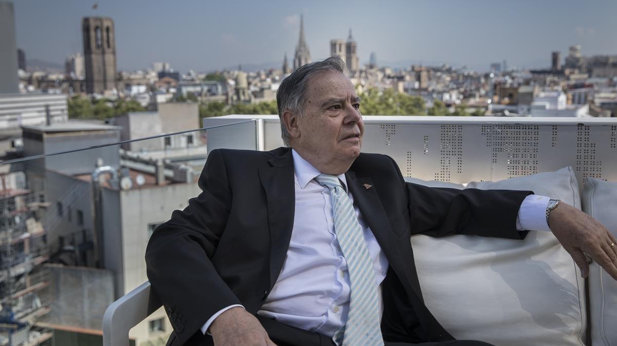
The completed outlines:
[[[15,10],[10,1],[0,1],[0,94],[19,92]]]

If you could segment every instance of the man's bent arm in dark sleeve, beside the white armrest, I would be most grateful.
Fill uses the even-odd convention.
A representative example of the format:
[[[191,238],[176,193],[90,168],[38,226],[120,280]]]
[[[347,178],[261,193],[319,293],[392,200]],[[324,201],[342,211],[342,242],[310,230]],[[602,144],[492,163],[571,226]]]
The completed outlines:
[[[155,229],[146,249],[148,279],[181,344],[214,313],[240,304],[210,262],[231,206],[220,151],[210,153],[199,187],[199,196]]]

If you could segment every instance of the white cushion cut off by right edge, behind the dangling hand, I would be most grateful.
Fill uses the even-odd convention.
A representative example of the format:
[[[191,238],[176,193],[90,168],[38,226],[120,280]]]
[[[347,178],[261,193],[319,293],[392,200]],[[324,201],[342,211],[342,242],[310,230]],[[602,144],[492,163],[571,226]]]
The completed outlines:
[[[581,199],[582,210],[617,236],[617,182],[587,178]],[[595,263],[589,270],[589,310],[592,345],[616,346],[617,281]]]

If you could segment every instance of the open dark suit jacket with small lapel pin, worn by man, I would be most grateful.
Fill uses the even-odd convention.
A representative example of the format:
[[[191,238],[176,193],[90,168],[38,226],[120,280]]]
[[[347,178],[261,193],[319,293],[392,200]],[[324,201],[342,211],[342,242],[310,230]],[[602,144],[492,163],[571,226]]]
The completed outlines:
[[[423,303],[410,236],[524,238],[526,232],[516,230],[516,217],[531,192],[405,183],[394,160],[365,153],[346,179],[390,264],[383,283],[384,339],[452,339]],[[372,187],[365,189],[365,183]],[[156,228],[146,250],[147,276],[172,323],[173,345],[211,342],[199,331],[210,316],[233,304],[255,314],[268,297],[293,225],[291,149],[213,150],[199,187],[201,194],[188,207]],[[276,333],[276,323],[262,319],[262,324]]]

